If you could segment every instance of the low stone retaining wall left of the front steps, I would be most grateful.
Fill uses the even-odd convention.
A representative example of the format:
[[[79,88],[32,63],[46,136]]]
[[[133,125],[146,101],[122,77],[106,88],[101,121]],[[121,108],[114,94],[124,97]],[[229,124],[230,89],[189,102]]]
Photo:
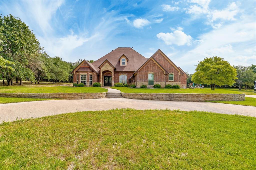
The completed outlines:
[[[106,92],[102,93],[0,93],[0,97],[9,98],[59,98],[59,99],[100,99],[104,98]]]

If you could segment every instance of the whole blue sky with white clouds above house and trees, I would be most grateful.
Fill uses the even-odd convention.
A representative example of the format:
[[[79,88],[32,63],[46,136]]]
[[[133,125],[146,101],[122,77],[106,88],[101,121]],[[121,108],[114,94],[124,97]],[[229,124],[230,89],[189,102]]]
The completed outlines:
[[[160,48],[184,71],[204,57],[256,64],[256,1],[0,1],[50,56],[96,60],[117,47]]]

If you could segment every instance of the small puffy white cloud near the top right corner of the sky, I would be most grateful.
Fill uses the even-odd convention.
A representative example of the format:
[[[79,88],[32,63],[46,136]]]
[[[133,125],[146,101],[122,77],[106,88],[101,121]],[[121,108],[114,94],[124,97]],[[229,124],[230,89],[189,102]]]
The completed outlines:
[[[212,21],[215,21],[217,19],[222,20],[236,20],[234,18],[235,15],[237,15],[239,12],[239,8],[236,3],[232,2],[228,5],[227,8],[223,10],[214,10],[211,12]]]

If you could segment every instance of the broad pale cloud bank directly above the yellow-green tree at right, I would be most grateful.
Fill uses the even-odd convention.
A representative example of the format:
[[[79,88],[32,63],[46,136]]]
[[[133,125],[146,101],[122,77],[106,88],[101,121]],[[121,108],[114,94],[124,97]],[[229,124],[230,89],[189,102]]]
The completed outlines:
[[[204,57],[220,56],[232,65],[256,63],[255,24],[253,18],[239,21],[202,34],[201,43],[180,58],[189,65],[196,65]],[[179,61],[177,61],[179,64]],[[187,65],[189,67],[189,65]]]

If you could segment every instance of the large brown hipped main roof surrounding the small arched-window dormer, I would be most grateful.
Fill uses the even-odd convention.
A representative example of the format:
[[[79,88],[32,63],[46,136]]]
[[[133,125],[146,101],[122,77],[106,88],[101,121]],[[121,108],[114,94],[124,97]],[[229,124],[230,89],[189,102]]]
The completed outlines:
[[[129,58],[126,66],[120,66],[120,61],[118,60],[120,56],[125,55]],[[147,58],[136,52],[130,47],[118,47],[110,53],[104,55],[100,59],[92,63],[92,65],[99,71],[99,66],[105,61],[109,62],[116,68],[115,71],[136,71],[147,61]]]

